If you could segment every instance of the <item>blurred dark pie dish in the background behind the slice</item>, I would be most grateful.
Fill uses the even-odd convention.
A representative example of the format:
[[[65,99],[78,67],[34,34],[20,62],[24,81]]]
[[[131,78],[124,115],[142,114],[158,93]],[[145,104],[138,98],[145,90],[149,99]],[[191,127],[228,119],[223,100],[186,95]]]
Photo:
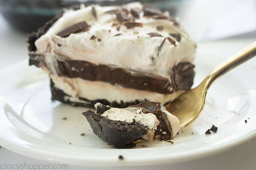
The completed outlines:
[[[0,0],[0,12],[13,28],[31,33],[44,25],[48,20],[58,14],[61,8],[99,4],[122,5],[124,3],[140,1],[151,3],[163,11],[175,15],[180,0]]]

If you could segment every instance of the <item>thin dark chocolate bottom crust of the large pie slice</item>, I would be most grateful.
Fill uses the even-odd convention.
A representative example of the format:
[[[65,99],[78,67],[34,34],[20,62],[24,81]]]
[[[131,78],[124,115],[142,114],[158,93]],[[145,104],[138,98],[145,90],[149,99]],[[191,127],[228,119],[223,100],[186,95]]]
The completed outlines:
[[[84,101],[84,102],[72,102],[69,99],[71,96],[66,94],[61,89],[56,88],[54,86],[54,82],[52,81],[52,79],[50,80],[50,88],[51,88],[51,93],[52,93],[52,100],[58,100],[60,102],[63,102],[63,103],[69,104],[69,105],[73,105],[73,106],[93,108],[94,105],[99,102],[99,103],[102,103],[103,105],[109,105],[113,108],[127,108],[130,105],[137,105],[140,102],[143,102],[143,101],[135,100],[135,101],[132,101],[132,102],[123,102],[123,101],[121,101],[119,103],[119,102],[116,102],[116,101],[109,102],[106,99],[88,100],[88,99],[85,99],[85,98],[82,98],[82,97],[79,97],[79,99]],[[144,100],[144,101],[146,101],[146,100]]]

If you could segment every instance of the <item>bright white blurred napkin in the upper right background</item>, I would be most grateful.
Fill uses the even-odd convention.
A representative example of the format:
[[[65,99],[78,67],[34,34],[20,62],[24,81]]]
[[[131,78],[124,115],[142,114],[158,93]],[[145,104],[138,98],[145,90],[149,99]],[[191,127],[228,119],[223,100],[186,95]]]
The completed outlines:
[[[256,32],[256,0],[185,0],[178,17],[199,42]]]

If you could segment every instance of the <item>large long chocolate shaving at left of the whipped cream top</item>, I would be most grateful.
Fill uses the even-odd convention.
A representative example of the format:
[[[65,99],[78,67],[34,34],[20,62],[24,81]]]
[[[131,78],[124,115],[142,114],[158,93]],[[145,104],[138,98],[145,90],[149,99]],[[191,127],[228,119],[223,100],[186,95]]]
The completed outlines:
[[[89,25],[86,23],[86,21],[82,21],[80,23],[76,23],[72,26],[69,26],[67,28],[64,28],[60,32],[58,32],[58,36],[60,37],[68,37],[70,34],[78,33],[80,31],[88,31]]]

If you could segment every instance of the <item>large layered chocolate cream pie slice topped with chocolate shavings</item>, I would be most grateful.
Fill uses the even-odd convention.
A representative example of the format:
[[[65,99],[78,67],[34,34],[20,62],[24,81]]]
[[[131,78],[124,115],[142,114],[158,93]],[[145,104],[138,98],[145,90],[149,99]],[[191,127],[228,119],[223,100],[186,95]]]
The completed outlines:
[[[195,43],[148,4],[67,8],[28,42],[29,65],[49,75],[52,99],[71,105],[165,104],[195,76]]]

